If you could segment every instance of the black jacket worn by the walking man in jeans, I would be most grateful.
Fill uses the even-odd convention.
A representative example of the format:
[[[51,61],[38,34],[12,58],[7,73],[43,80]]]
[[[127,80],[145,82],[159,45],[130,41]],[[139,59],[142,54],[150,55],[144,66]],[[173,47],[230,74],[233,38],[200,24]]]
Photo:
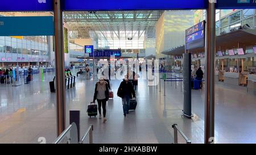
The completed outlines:
[[[136,95],[133,89],[133,84],[131,82],[126,84],[126,81],[123,80],[118,88],[117,95],[121,98],[125,97],[125,95],[129,95],[130,98],[135,98]]]

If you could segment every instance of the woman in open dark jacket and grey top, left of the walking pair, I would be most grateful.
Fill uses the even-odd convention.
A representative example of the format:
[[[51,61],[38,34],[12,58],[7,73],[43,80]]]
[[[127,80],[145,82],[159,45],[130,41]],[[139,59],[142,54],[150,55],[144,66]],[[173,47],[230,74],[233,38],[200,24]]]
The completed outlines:
[[[93,102],[97,99],[98,102],[98,112],[101,119],[101,106],[103,109],[103,123],[106,122],[106,102],[109,99],[109,87],[108,83],[104,81],[104,78],[100,78],[100,81],[96,83]]]

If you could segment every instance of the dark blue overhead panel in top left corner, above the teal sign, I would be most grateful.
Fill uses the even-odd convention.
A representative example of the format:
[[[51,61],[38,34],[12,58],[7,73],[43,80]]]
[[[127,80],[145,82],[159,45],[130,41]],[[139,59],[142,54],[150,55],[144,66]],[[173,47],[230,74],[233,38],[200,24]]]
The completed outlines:
[[[0,11],[53,11],[53,0],[1,0]]]

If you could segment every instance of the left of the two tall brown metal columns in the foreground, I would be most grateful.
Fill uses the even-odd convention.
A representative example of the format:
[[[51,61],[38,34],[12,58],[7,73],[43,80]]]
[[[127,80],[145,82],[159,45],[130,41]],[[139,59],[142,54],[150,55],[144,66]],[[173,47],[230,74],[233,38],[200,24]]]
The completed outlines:
[[[57,136],[65,129],[63,10],[60,6],[60,0],[54,0]]]

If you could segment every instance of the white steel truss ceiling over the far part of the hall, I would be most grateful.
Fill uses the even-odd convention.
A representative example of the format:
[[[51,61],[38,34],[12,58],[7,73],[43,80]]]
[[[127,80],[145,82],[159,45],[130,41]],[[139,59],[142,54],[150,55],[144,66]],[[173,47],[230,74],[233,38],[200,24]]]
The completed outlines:
[[[163,11],[72,11],[64,12],[64,22],[67,23],[70,39],[125,36],[154,37],[155,23]],[[106,36],[108,32],[108,36]]]

